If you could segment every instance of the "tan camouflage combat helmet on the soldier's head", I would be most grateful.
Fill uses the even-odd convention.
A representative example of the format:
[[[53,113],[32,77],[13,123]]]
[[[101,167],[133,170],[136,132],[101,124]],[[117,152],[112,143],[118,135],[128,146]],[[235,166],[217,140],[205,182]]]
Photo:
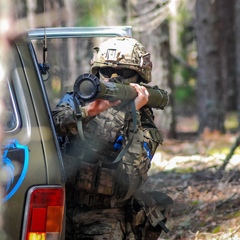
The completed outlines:
[[[131,69],[143,82],[151,82],[152,62],[150,53],[137,40],[114,37],[94,48],[90,72],[97,75],[100,68]]]

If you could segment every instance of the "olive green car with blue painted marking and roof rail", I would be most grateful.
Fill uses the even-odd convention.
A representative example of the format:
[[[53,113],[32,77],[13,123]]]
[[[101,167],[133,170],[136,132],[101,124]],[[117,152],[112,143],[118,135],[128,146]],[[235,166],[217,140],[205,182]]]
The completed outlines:
[[[2,230],[6,239],[65,238],[65,171],[51,111],[89,67],[80,55],[71,58],[75,54],[71,44],[89,60],[93,42],[131,34],[130,26],[33,29],[12,40],[8,56],[1,57],[1,61],[8,57],[9,66],[2,86],[5,120],[0,165],[5,172]]]

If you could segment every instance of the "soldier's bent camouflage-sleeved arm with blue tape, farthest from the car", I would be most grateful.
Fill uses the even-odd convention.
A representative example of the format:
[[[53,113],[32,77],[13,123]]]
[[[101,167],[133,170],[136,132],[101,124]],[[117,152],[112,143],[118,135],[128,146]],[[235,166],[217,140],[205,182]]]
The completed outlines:
[[[133,134],[132,144],[122,159],[122,179],[125,185],[125,199],[129,198],[146,181],[147,172],[151,167],[152,157],[159,144],[163,142],[160,131],[153,122],[151,109],[142,108],[137,111],[137,129],[134,132],[130,121],[126,140]]]

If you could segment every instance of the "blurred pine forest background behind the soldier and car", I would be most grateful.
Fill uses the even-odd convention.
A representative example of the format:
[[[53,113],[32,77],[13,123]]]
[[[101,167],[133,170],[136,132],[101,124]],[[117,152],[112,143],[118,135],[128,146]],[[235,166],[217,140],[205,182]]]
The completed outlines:
[[[12,0],[7,13],[13,31],[132,26],[170,96],[154,110],[165,142],[146,183],[175,200],[163,238],[240,239],[239,0]]]

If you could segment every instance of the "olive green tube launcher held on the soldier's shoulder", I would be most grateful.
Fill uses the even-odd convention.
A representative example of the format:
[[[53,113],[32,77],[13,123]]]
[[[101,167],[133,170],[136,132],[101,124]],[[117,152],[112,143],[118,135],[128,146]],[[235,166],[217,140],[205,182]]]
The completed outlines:
[[[168,93],[158,86],[148,86],[144,83],[140,85],[146,87],[149,92],[146,105],[151,108],[164,109],[169,100]],[[76,79],[73,91],[81,103],[92,102],[96,99],[129,102],[137,97],[136,90],[129,84],[112,82],[111,79],[109,82],[103,82],[89,73],[81,74]]]

